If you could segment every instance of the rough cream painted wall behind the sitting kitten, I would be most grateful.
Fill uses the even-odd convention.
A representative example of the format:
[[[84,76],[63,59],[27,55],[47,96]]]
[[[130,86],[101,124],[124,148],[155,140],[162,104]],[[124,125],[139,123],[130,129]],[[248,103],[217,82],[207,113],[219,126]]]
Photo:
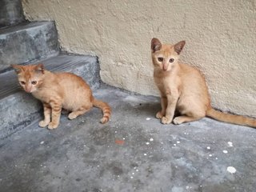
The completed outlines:
[[[103,82],[158,95],[150,40],[186,40],[182,62],[206,76],[213,106],[256,117],[255,0],[22,0],[56,21],[62,50],[95,54]]]

